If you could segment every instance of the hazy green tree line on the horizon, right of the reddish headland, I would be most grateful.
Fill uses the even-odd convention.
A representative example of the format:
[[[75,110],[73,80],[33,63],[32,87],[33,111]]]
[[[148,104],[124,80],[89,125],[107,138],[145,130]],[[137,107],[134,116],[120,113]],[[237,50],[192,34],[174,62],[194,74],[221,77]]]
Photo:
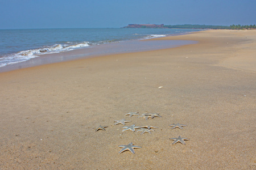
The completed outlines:
[[[187,28],[187,29],[256,29],[256,25],[230,25],[230,26],[222,26],[222,25],[192,25],[192,24],[184,24],[184,25],[164,25],[164,28]]]

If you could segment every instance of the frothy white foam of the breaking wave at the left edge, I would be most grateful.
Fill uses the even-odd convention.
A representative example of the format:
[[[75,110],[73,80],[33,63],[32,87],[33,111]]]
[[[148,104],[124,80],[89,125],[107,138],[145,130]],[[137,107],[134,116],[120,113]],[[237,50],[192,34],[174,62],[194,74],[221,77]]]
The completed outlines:
[[[73,44],[72,42],[67,42],[67,44],[55,44],[52,46],[40,48],[40,49],[31,49],[24,50],[18,53],[9,54],[0,58],[0,67],[6,66],[12,63],[27,61],[28,59],[39,57],[40,54],[52,54],[65,52],[77,48],[84,48],[90,46],[89,42],[82,42],[79,44]]]

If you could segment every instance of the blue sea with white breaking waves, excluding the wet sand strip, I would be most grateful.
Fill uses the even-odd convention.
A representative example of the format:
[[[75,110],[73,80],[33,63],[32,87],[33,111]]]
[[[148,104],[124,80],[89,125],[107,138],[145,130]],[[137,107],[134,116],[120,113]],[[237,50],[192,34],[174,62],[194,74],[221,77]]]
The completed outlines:
[[[89,49],[101,44],[151,39],[195,31],[200,30],[154,28],[0,29],[0,68],[40,57],[42,54]],[[140,48],[139,44],[136,48]]]

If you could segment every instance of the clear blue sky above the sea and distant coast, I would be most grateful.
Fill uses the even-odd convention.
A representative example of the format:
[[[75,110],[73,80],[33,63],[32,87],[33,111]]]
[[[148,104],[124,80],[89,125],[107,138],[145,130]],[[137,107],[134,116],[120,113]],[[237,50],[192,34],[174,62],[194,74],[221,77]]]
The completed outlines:
[[[256,0],[0,0],[0,29],[256,24]]]

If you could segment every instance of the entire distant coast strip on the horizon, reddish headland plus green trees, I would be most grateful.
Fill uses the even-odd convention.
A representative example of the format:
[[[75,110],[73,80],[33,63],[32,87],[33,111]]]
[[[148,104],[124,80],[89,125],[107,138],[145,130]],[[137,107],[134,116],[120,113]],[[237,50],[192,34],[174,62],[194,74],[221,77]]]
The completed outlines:
[[[183,24],[183,25],[164,25],[164,24],[129,24],[122,28],[183,28],[183,29],[256,29],[256,25],[199,25],[199,24]]]

